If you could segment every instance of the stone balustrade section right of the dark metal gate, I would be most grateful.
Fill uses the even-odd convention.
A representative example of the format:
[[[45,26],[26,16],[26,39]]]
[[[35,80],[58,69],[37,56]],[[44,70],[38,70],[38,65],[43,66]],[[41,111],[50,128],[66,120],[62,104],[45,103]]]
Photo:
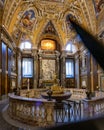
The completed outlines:
[[[84,117],[104,115],[104,92],[95,92],[90,100],[83,99]]]

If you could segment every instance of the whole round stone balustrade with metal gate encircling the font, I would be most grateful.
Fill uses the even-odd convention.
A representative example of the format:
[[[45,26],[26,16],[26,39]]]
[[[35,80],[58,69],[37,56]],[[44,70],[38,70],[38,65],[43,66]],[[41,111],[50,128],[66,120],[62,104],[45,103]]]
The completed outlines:
[[[40,95],[43,91],[46,90],[31,90],[29,95],[32,94],[33,98],[26,97],[26,90],[21,91],[21,95],[25,95],[25,97],[10,94],[9,116],[26,124],[44,127],[99,116],[104,113],[103,92],[96,92],[95,97],[89,100],[86,98],[85,90],[65,89],[65,92],[70,91],[72,96],[63,100],[60,107],[55,100],[43,99]]]

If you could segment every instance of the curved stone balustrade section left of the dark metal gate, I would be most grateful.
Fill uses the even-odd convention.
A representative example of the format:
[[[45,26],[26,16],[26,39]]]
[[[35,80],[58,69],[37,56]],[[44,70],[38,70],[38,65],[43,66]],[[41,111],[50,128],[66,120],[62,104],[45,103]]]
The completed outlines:
[[[8,114],[23,123],[44,127],[54,124],[55,101],[32,99],[9,94]]]

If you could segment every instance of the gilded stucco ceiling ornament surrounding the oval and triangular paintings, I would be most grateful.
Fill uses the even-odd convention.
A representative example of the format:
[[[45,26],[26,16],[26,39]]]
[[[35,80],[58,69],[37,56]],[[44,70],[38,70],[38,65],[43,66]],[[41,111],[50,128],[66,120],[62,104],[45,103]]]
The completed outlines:
[[[9,10],[8,7],[10,7]],[[19,29],[21,28],[19,26],[20,19],[24,12],[29,9],[33,9],[35,12],[36,24],[34,24],[31,32],[25,30],[25,33],[34,46],[37,46],[40,39],[43,37],[42,31],[49,20],[52,21],[58,33],[58,37],[52,36],[52,38],[58,39],[58,41],[60,40],[59,42],[62,47],[66,44],[67,40],[73,39],[76,34],[72,30],[67,31],[65,22],[67,14],[75,16],[81,25],[96,34],[96,17],[93,3],[92,1],[86,0],[65,0],[64,2],[13,0],[11,3],[7,1],[4,9],[3,23],[10,34],[14,33],[14,30],[16,30],[17,27],[19,27]],[[17,41],[17,45],[20,40]]]

